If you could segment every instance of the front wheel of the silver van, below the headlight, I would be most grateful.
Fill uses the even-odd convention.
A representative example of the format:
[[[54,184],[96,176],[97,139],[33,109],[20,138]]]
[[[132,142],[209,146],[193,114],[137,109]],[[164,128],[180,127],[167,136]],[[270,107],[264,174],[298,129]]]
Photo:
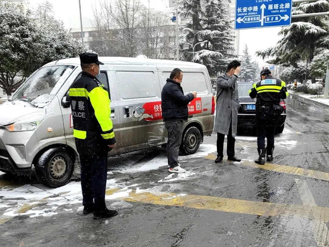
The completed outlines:
[[[40,155],[35,167],[40,183],[57,188],[70,181],[73,159],[64,148],[51,148]]]

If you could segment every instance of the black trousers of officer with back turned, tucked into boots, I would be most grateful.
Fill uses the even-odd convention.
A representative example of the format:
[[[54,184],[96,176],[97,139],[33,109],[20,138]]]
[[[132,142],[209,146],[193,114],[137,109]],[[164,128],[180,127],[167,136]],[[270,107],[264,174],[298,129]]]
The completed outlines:
[[[276,119],[269,114],[256,114],[258,149],[265,149],[265,138],[267,139],[267,148],[274,148],[274,134],[277,125],[276,122]]]

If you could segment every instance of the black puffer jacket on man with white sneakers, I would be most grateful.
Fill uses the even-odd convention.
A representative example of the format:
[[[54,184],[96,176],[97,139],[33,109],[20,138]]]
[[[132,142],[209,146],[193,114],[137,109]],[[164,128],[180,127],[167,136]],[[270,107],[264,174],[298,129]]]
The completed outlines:
[[[194,99],[193,94],[184,95],[180,83],[167,79],[161,93],[162,117],[164,121],[187,121],[188,104]]]

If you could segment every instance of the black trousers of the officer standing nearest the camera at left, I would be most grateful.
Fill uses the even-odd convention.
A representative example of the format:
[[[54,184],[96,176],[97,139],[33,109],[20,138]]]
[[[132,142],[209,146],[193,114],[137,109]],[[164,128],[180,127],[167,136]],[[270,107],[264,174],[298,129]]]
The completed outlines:
[[[83,206],[95,207],[95,212],[106,210],[105,189],[107,155],[80,155]]]

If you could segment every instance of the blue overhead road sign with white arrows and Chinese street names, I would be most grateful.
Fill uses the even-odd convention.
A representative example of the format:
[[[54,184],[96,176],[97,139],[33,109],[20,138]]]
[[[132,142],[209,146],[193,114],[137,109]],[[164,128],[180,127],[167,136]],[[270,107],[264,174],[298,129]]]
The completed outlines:
[[[292,0],[236,0],[235,29],[291,24]]]

